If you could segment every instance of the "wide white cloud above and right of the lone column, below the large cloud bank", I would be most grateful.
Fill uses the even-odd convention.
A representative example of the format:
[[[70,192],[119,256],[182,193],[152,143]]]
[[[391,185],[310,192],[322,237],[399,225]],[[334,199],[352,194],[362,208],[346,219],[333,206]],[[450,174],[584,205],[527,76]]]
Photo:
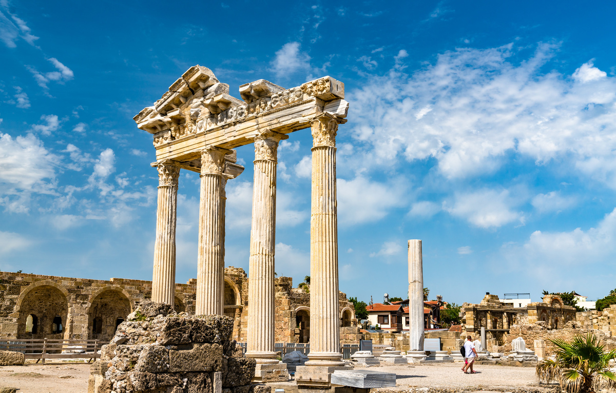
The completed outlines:
[[[518,204],[508,190],[495,191],[482,189],[468,194],[456,193],[453,207],[444,210],[454,216],[464,218],[480,228],[497,228],[514,221],[524,223],[524,216],[515,212],[513,207]]]

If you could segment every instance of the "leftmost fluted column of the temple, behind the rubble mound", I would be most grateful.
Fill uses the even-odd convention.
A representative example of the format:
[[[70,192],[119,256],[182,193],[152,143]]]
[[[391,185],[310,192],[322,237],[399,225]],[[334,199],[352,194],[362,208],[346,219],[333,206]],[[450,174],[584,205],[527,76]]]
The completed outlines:
[[[158,169],[158,207],[152,275],[152,301],[173,305],[176,297],[176,216],[177,178],[180,167],[160,162]]]

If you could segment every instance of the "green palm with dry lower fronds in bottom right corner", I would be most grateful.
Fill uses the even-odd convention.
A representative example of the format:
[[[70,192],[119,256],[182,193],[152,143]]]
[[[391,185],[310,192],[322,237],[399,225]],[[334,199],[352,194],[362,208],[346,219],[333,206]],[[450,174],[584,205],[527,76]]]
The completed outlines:
[[[604,346],[594,333],[575,335],[568,343],[564,339],[551,339],[556,346],[556,359],[537,364],[539,381],[558,381],[567,393],[594,393],[604,385],[616,392],[616,375],[610,370],[610,360],[616,351],[604,351]]]

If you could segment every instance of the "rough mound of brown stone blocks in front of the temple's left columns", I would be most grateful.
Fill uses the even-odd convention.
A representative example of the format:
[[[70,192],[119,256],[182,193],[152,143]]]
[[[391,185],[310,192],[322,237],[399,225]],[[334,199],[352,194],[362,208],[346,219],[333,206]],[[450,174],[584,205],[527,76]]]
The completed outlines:
[[[165,309],[166,307],[166,309]],[[256,362],[229,337],[233,319],[145,302],[91,368],[89,393],[251,393]]]

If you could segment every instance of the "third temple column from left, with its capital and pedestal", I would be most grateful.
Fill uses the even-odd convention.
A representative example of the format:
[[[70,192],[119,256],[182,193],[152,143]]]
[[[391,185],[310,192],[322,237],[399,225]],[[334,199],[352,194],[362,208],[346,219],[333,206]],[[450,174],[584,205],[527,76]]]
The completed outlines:
[[[274,351],[274,254],[278,142],[286,135],[265,131],[254,138],[253,217],[248,277],[248,351],[257,361],[254,382],[288,381],[286,364]]]

